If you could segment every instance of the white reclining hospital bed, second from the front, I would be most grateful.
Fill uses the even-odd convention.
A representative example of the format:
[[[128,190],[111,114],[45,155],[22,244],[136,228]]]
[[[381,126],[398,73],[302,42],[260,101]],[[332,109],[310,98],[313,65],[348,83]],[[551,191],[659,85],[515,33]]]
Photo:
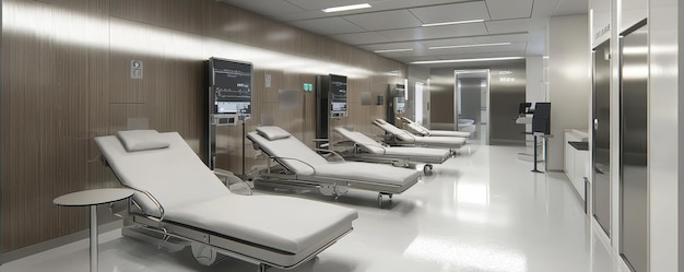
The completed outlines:
[[[306,146],[287,131],[274,127],[258,127],[247,133],[255,150],[269,156],[269,165],[258,173],[255,182],[270,184],[273,187],[291,189],[315,188],[325,196],[335,198],[346,193],[349,188],[378,192],[378,205],[382,206],[382,196],[401,193],[415,185],[421,173],[413,169],[394,168],[358,162],[330,162]],[[319,150],[319,152],[329,152]],[[271,165],[271,161],[278,165]]]

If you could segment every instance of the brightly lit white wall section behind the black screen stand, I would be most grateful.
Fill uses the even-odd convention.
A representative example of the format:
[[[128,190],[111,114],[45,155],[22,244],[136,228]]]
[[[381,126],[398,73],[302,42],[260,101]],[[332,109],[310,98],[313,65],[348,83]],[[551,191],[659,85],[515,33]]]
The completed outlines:
[[[563,170],[565,129],[589,128],[587,100],[591,93],[587,15],[552,17],[549,38],[549,100],[551,133],[549,169]]]

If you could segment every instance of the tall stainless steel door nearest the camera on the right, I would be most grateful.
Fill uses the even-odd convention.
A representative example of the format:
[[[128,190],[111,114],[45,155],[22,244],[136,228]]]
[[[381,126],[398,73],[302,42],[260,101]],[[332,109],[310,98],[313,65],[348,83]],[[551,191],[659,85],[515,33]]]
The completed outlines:
[[[621,38],[620,253],[648,271],[648,33],[641,23]]]

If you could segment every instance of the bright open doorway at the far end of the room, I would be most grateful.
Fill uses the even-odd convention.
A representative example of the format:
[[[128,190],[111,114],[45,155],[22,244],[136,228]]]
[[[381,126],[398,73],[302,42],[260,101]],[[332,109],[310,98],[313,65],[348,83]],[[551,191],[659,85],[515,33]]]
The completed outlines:
[[[455,71],[453,126],[471,133],[471,141],[490,144],[490,70]]]

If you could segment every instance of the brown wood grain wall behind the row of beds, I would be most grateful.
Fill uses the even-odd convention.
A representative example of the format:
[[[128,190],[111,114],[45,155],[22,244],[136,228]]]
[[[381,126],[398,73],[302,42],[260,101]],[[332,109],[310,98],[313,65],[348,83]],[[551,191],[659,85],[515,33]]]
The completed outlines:
[[[362,106],[361,93],[375,99],[402,82],[385,73],[406,74],[402,63],[213,0],[3,0],[0,46],[3,252],[87,228],[86,209],[57,208],[52,199],[118,186],[94,137],[178,131],[199,154],[210,57],[253,63],[248,131],[273,123],[309,144],[314,94],[299,92],[300,108],[281,108],[280,90],[345,74],[350,117],[333,125],[379,133],[370,121],[385,117],[385,106]],[[131,79],[131,60],[143,61],[142,80]],[[243,147],[247,169],[260,163],[249,141],[241,145],[239,127],[222,127],[219,139],[219,167],[240,173]]]

